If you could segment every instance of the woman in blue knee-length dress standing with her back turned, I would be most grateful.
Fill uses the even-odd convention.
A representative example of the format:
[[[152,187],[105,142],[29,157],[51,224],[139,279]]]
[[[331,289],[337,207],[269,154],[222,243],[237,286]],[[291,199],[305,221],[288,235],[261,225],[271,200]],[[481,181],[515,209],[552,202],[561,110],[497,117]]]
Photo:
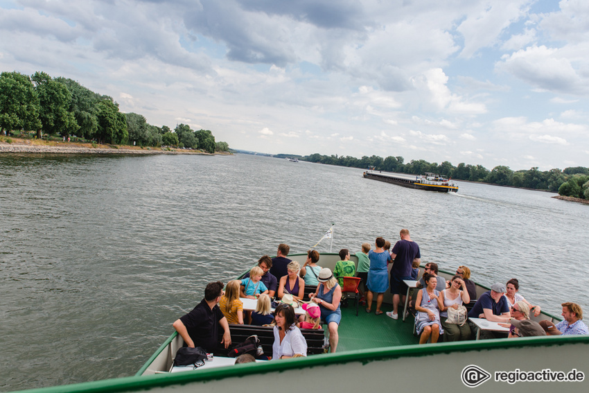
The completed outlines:
[[[368,281],[366,286],[368,288],[366,294],[366,302],[368,307],[366,312],[369,313],[372,308],[372,298],[376,293],[376,315],[380,315],[383,311],[380,310],[380,305],[383,304],[383,296],[387,289],[389,289],[389,272],[387,270],[388,261],[391,260],[391,254],[385,251],[385,239],[376,238],[376,249],[368,252],[370,259],[370,269],[368,270]]]

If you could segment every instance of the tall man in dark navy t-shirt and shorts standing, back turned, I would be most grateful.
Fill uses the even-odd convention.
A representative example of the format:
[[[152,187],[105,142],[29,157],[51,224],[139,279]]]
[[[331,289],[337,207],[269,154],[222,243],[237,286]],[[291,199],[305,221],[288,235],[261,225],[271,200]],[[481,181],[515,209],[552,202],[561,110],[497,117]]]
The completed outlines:
[[[391,268],[391,293],[393,294],[393,311],[387,313],[388,317],[398,320],[398,306],[401,301],[400,294],[407,293],[407,286],[403,280],[411,279],[411,270],[414,259],[421,260],[419,245],[411,240],[408,229],[401,229],[399,232],[401,240],[395,243],[391,252],[391,258],[394,259]]]

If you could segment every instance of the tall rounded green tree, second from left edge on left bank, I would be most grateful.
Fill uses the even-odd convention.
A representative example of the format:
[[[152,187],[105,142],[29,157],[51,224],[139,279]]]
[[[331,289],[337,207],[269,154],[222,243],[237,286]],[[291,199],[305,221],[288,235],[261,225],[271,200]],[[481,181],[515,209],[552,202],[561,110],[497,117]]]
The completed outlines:
[[[62,137],[76,132],[79,127],[73,112],[69,112],[71,94],[67,86],[39,71],[31,79],[39,97],[39,119],[44,132]],[[41,137],[40,132],[37,132],[37,137]]]

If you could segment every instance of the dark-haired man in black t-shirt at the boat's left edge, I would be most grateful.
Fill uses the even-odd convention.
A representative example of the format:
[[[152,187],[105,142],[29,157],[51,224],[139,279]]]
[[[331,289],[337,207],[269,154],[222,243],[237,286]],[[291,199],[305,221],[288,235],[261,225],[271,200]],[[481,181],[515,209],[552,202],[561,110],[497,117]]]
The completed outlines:
[[[214,352],[218,347],[219,326],[225,330],[221,344],[225,349],[231,345],[229,323],[217,305],[223,295],[223,283],[209,283],[204,289],[204,299],[190,313],[174,322],[174,329],[190,347],[202,347],[206,352]]]

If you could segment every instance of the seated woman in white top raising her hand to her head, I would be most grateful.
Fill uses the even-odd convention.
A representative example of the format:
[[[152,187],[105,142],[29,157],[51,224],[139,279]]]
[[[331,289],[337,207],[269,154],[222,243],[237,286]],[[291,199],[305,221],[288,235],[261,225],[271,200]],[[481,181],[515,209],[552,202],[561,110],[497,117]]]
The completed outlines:
[[[441,308],[440,318],[444,331],[444,340],[450,341],[464,341],[471,339],[471,327],[464,321],[464,324],[450,324],[448,320],[448,308],[457,309],[458,306],[471,302],[468,296],[468,290],[464,281],[459,275],[452,277],[450,280],[450,288],[441,291],[441,301],[443,308]]]

